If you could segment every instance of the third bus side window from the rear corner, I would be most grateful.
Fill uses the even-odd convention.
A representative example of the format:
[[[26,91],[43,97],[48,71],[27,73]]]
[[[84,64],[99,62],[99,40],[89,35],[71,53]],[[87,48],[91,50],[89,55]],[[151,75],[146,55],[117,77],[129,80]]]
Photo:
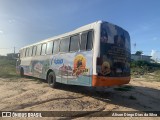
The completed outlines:
[[[78,51],[79,50],[79,35],[75,35],[71,37],[70,43],[70,51]]]

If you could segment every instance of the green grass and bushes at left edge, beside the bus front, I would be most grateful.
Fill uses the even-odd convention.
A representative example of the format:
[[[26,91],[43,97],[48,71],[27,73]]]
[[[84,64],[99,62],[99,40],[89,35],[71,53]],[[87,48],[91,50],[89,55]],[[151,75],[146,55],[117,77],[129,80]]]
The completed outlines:
[[[0,58],[0,77],[1,78],[17,78],[16,60]]]

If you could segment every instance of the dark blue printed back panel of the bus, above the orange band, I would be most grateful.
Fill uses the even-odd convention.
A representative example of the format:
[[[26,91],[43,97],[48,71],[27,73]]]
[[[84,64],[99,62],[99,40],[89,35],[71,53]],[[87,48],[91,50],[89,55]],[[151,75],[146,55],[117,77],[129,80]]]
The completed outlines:
[[[99,76],[130,76],[130,37],[127,31],[110,23],[102,23],[100,58],[97,62]]]

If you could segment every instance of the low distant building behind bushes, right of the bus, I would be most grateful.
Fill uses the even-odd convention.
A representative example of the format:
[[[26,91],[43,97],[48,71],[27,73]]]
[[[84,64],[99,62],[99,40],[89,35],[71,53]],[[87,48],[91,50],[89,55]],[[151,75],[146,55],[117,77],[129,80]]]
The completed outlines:
[[[134,61],[144,60],[144,61],[150,62],[151,61],[151,57],[152,56],[148,56],[148,55],[135,55],[135,54],[132,54],[131,55],[131,60],[134,60]]]

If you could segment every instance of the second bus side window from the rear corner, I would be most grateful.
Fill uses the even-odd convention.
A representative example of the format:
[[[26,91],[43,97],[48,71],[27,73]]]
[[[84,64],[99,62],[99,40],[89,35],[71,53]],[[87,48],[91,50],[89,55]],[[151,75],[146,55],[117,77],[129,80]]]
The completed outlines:
[[[87,32],[81,34],[80,50],[86,50]]]

